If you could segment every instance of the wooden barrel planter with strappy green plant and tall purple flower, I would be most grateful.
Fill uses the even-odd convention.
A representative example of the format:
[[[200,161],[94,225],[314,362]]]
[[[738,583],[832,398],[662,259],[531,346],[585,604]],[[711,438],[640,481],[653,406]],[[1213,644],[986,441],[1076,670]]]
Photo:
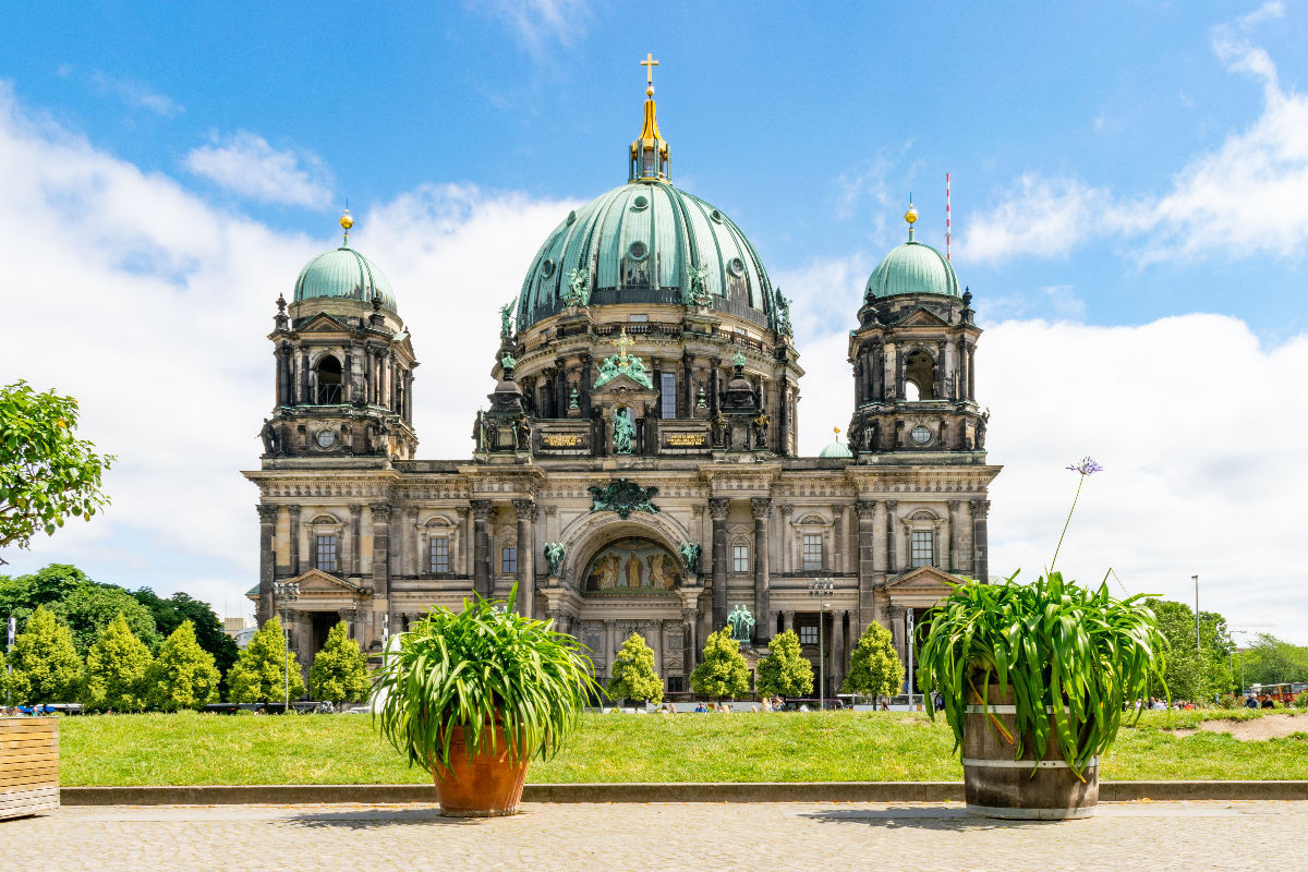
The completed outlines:
[[[1082,481],[1100,469],[1088,458],[1070,468]],[[933,613],[918,684],[939,694],[961,749],[969,812],[1093,814],[1099,756],[1150,677],[1162,680],[1167,648],[1146,595],[1114,599],[1107,580],[1091,590],[1052,570],[1035,584],[1016,573],[1002,584],[965,580]]]

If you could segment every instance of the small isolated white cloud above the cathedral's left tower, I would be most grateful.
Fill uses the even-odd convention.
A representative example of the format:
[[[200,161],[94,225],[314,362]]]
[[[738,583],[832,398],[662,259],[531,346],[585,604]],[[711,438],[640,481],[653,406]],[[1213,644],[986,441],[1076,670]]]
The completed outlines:
[[[331,174],[310,152],[281,152],[256,133],[237,131],[192,149],[183,166],[258,203],[320,208],[331,201]]]

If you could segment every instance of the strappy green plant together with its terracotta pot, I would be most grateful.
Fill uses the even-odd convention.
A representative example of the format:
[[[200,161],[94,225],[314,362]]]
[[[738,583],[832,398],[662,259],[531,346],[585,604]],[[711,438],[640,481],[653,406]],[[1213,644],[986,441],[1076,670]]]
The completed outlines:
[[[599,694],[586,648],[515,614],[515,595],[433,608],[388,646],[373,684],[378,729],[432,773],[450,817],[515,814],[527,763],[557,753]]]

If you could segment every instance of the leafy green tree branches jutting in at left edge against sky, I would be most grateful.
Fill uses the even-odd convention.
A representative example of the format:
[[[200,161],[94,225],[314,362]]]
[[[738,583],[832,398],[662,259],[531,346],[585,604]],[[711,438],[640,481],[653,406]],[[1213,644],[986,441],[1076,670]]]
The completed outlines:
[[[77,439],[77,400],[37,394],[26,382],[0,387],[0,548],[27,548],[68,515],[90,520],[109,502],[101,475],[114,458]]]

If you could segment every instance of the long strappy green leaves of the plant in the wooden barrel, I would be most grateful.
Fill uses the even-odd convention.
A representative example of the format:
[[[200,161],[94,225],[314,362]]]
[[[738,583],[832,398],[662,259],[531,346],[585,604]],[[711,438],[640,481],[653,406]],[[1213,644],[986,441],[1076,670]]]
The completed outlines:
[[[1014,758],[1028,741],[1044,757],[1053,739],[1079,777],[1112,745],[1122,711],[1165,669],[1167,639],[1143,599],[1116,600],[1107,584],[1092,591],[1061,573],[1035,584],[1019,584],[1016,573],[1002,584],[957,584],[933,616],[918,685],[940,693],[957,745],[968,692],[988,701],[989,685],[1001,694],[1011,685]]]

